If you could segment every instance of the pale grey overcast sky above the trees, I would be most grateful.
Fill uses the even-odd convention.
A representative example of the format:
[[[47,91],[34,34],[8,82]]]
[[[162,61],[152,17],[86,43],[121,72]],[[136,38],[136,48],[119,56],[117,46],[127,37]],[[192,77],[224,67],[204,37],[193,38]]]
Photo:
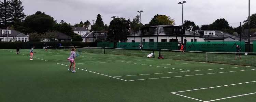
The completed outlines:
[[[57,22],[62,19],[71,25],[96,20],[101,14],[104,24],[109,25],[112,16],[132,19],[142,10],[141,22],[148,23],[156,14],[175,19],[176,26],[182,23],[181,0],[22,0],[24,13],[32,15],[37,11],[45,12]],[[184,20],[194,21],[197,25],[211,24],[225,18],[230,26],[239,26],[248,17],[248,0],[186,0]],[[182,2],[182,1],[181,1]],[[256,0],[250,2],[250,15],[256,13]]]

